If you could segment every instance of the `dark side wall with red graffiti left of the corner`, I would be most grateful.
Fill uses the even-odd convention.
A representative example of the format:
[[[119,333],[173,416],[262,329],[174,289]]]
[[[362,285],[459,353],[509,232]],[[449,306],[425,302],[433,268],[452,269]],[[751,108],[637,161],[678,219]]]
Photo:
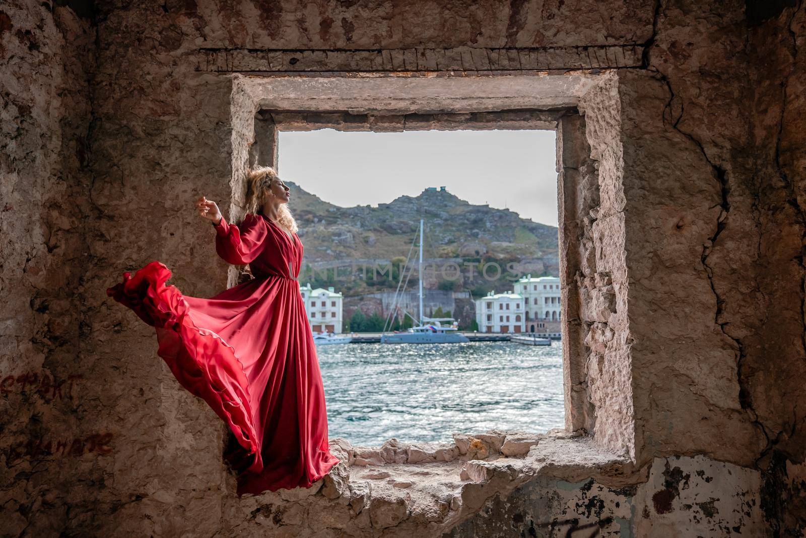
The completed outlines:
[[[0,532],[64,528],[65,498],[91,503],[102,479],[86,427],[96,398],[81,368],[88,258],[89,77],[95,29],[48,2],[0,3]],[[73,489],[75,488],[75,489]]]

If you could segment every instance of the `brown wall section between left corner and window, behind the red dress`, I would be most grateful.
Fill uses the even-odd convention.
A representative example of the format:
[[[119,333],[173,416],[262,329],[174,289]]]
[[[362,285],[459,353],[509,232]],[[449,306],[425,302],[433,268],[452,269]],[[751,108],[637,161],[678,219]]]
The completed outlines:
[[[124,271],[160,261],[184,294],[226,288],[215,232],[193,202],[202,194],[228,216],[231,79],[181,63],[172,24],[186,20],[156,2],[98,10],[93,78],[93,200],[86,270],[84,365],[106,391],[94,420],[115,432],[98,459],[93,533],[179,536],[217,528],[234,477],[223,461],[222,421],[177,390],[156,355],[154,329],[106,297]],[[123,525],[123,527],[122,527]],[[81,523],[69,526],[81,529]]]

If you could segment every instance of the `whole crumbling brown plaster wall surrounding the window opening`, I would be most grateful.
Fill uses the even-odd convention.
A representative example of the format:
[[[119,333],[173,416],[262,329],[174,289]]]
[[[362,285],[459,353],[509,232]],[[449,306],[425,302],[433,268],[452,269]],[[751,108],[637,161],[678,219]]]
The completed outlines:
[[[620,107],[610,123],[586,126],[601,197],[591,233],[623,230],[612,237],[624,242],[629,268],[598,274],[611,261],[593,253],[592,289],[612,286],[613,302],[611,315],[588,319],[588,370],[598,374],[591,382],[601,398],[620,398],[608,385],[613,376],[631,386],[633,408],[596,427],[605,437],[611,426],[633,436],[638,468],[617,486],[612,477],[596,484],[618,490],[632,481],[638,497],[667,495],[681,518],[700,517],[696,503],[687,508],[646,476],[662,475],[667,457],[705,454],[713,462],[684,469],[712,465],[724,481],[735,473],[730,465],[742,466],[737,491],[760,498],[765,532],[802,530],[802,3],[751,11],[748,20],[742,2],[103,2],[94,27],[69,7],[9,5],[0,8],[3,61],[15,80],[48,85],[39,94],[3,80],[3,114],[19,126],[4,132],[0,162],[0,222],[14,238],[2,252],[13,313],[3,377],[15,376],[0,402],[13,411],[2,419],[10,484],[0,499],[10,522],[3,532],[213,534],[237,528],[244,515],[222,465],[217,418],[178,388],[155,355],[152,329],[104,293],[123,270],[155,259],[188,294],[209,296],[227,281],[191,203],[202,193],[238,201],[232,156],[247,151],[251,119],[231,117],[231,101],[242,96],[230,73],[197,70],[200,49],[601,44],[643,48],[643,65],[613,73],[612,86],[600,88],[609,96],[580,103],[594,111],[608,97]],[[35,102],[27,102],[31,94]],[[620,133],[621,144],[608,133]],[[227,214],[229,203],[222,206]],[[629,360],[609,331],[621,335]],[[27,373],[57,382],[77,376],[75,389],[51,402],[16,381]],[[630,414],[634,423],[625,422]],[[74,436],[102,437],[82,441],[80,454],[36,448]],[[604,445],[617,448],[620,438]],[[22,455],[14,465],[12,454]],[[506,494],[505,504],[564,517],[539,500],[558,491],[556,480],[539,480],[530,492]],[[569,489],[572,498],[583,498],[581,485]],[[689,487],[708,493],[700,482]],[[600,501],[604,511],[590,521],[626,518],[615,497]],[[263,530],[302,532],[313,515],[300,515],[295,494],[277,502],[287,524],[277,519]],[[648,516],[630,512],[633,531],[670,536],[667,505],[641,502]],[[484,517],[504,518],[503,510],[493,506]],[[334,516],[337,527],[347,526],[342,517]],[[758,524],[758,513],[747,517]],[[671,528],[685,535],[692,527],[683,519]]]

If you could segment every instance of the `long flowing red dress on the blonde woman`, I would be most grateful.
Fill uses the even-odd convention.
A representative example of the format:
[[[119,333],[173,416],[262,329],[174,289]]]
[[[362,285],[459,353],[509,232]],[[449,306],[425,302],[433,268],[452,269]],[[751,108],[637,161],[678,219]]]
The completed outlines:
[[[238,494],[308,487],[339,459],[330,453],[322,374],[299,282],[302,243],[264,215],[221,219],[215,249],[255,278],[213,298],[166,286],[152,261],[106,290],[156,328],[181,386],[203,398],[235,441],[225,454]]]

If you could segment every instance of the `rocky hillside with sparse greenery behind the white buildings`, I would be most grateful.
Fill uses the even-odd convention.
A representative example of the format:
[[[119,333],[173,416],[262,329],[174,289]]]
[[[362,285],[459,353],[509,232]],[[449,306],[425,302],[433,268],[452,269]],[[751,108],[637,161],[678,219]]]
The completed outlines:
[[[288,182],[289,208],[305,244],[305,262],[406,256],[425,219],[427,258],[556,259],[557,228],[509,210],[472,205],[454,194],[423,190],[389,203],[339,207]],[[551,265],[551,264],[549,264]]]

